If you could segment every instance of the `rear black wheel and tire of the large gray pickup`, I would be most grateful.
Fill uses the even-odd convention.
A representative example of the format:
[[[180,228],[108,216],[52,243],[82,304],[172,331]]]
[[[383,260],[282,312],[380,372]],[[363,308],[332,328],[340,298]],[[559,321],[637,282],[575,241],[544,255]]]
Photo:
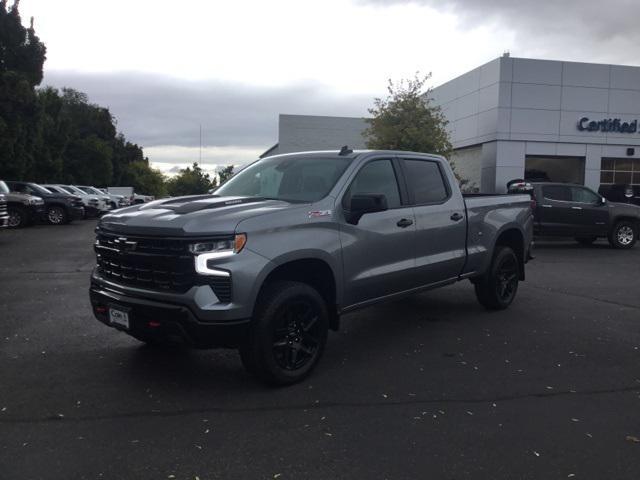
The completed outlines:
[[[520,265],[509,247],[496,247],[489,271],[475,284],[476,297],[489,310],[504,310],[518,291]]]

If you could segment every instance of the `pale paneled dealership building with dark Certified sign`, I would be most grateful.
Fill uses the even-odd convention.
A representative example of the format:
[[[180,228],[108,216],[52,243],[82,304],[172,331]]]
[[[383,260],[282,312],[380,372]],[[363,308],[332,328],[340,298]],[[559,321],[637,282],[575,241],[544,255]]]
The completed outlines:
[[[640,184],[640,67],[497,58],[434,88],[453,161],[482,192],[514,178]],[[364,148],[362,118],[280,115],[263,155]]]

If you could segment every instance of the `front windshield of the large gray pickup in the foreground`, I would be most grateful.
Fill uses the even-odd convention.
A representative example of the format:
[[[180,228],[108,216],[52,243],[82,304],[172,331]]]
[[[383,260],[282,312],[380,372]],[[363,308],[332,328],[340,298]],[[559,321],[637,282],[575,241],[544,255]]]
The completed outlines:
[[[315,202],[329,193],[350,162],[344,157],[267,157],[238,172],[215,194]]]

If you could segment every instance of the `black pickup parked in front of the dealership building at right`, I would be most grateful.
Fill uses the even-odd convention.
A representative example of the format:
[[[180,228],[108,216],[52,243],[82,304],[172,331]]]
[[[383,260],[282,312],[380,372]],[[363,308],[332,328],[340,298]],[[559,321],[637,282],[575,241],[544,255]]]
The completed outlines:
[[[583,185],[531,183],[534,233],[573,237],[581,244],[607,238],[614,248],[631,248],[640,232],[640,207],[609,202]]]

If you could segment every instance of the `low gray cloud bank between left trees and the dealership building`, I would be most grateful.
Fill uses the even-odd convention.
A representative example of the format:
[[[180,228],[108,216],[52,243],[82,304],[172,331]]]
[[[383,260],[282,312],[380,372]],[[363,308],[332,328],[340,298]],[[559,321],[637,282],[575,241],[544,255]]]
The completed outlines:
[[[370,95],[341,96],[318,84],[257,87],[143,73],[49,71],[43,85],[72,87],[106,106],[118,130],[144,147],[199,144],[270,147],[278,113],[360,116]]]

